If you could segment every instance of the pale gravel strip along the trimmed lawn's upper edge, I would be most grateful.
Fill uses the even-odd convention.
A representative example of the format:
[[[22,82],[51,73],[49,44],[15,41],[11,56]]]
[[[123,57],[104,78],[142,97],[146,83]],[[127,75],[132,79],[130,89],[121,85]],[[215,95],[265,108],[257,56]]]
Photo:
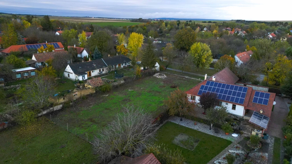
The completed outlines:
[[[185,127],[188,127],[188,128],[194,129],[194,130],[198,130],[200,132],[207,133],[209,135],[228,139],[232,142],[236,141],[240,136],[240,134],[238,134],[238,137],[233,137],[231,134],[225,135],[225,132],[223,132],[223,130],[221,130],[221,129],[218,130],[219,133],[215,133],[214,128],[212,128],[212,130],[209,130],[210,125],[206,125],[206,124],[199,123],[199,122],[197,122],[197,125],[194,125],[194,121],[189,120],[189,119],[185,119],[185,118],[183,118],[183,121],[180,121],[180,117],[177,117],[177,116],[172,116],[171,118],[168,119],[168,121],[171,121],[171,122],[179,124],[179,125],[183,125]]]

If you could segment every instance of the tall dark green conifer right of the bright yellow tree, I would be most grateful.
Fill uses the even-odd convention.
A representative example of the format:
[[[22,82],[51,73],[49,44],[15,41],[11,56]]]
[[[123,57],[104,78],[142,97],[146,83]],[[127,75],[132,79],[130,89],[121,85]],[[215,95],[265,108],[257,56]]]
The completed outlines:
[[[142,54],[142,58],[141,58],[141,64],[145,67],[145,68],[154,68],[155,63],[156,63],[156,56],[155,56],[155,47],[152,43],[152,41],[150,41],[150,39],[148,39],[148,45],[145,47],[145,49],[143,50],[143,54]]]

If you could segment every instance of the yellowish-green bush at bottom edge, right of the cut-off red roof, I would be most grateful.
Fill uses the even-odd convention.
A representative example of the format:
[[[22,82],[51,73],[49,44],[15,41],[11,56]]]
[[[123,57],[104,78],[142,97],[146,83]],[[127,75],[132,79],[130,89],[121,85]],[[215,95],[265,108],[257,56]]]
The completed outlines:
[[[149,146],[144,153],[153,153],[161,164],[184,164],[186,160],[180,150],[174,149],[172,151],[164,144]]]

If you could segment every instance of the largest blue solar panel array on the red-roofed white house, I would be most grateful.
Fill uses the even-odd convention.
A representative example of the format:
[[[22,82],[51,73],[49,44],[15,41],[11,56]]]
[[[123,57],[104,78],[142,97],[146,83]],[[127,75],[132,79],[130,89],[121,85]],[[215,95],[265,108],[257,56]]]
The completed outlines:
[[[201,85],[198,95],[212,92],[220,100],[243,104],[247,89],[247,87],[243,86],[207,81],[206,85]]]

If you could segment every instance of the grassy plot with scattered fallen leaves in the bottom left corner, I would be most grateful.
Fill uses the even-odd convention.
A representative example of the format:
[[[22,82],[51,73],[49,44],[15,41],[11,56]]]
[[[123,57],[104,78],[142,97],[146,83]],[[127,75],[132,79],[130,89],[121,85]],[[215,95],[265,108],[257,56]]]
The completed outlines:
[[[37,135],[19,135],[20,126],[0,132],[0,163],[96,163],[91,144],[42,118]]]

